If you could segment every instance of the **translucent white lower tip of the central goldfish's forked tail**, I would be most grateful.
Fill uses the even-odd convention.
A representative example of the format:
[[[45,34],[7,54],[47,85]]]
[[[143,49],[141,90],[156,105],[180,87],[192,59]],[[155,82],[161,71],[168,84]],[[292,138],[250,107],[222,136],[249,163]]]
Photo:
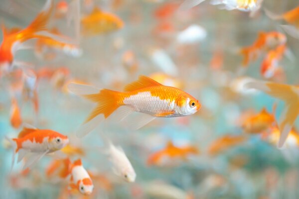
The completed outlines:
[[[82,124],[79,129],[76,131],[76,135],[79,138],[84,137],[89,132],[94,130],[102,121],[105,120],[105,116],[103,114],[99,114],[92,118],[90,121]]]

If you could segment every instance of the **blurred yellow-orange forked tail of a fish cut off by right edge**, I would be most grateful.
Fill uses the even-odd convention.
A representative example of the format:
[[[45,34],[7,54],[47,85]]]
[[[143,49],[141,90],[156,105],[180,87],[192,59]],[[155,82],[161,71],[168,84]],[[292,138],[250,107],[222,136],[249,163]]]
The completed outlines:
[[[299,115],[299,87],[263,81],[252,81],[245,86],[247,88],[263,91],[264,93],[285,102],[285,108],[278,121],[278,126],[281,131],[278,147],[283,147],[289,132]]]

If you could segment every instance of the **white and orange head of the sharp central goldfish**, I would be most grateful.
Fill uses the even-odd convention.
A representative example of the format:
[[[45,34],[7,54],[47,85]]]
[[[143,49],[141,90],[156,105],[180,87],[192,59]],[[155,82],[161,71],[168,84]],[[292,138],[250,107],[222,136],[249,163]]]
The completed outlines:
[[[176,100],[176,111],[180,115],[191,115],[199,110],[201,104],[192,96],[186,94],[181,95]]]

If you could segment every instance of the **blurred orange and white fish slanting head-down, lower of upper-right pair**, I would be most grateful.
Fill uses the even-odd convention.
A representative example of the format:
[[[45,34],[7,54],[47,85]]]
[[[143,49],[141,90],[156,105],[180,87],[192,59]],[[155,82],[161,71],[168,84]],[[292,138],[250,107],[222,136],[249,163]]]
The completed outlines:
[[[261,74],[265,78],[272,78],[279,70],[279,61],[286,52],[286,45],[280,45],[274,50],[270,50],[262,62]]]

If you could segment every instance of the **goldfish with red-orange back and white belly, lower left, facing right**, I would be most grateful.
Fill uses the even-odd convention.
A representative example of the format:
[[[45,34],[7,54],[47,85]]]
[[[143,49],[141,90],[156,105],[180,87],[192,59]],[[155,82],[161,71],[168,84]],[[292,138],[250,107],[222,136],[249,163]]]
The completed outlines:
[[[16,153],[18,153],[17,162],[20,162],[29,152],[34,153],[34,156],[26,161],[24,168],[30,168],[33,163],[41,159],[44,155],[62,149],[69,142],[67,136],[56,131],[37,129],[28,124],[23,127],[17,138],[7,138],[7,140],[13,147],[12,167]]]

